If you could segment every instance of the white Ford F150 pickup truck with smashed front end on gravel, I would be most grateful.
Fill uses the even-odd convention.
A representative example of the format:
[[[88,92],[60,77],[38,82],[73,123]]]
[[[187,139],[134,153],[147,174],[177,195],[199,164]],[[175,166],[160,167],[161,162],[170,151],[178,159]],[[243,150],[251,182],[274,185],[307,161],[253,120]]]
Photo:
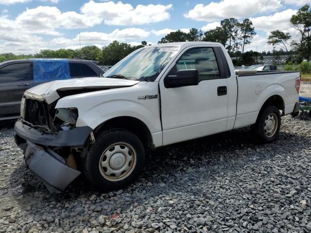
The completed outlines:
[[[241,71],[247,72],[247,71]],[[51,192],[81,172],[98,189],[132,183],[145,151],[251,125],[276,139],[299,108],[299,72],[236,72],[219,43],[134,51],[104,74],[43,83],[24,93],[16,143]]]

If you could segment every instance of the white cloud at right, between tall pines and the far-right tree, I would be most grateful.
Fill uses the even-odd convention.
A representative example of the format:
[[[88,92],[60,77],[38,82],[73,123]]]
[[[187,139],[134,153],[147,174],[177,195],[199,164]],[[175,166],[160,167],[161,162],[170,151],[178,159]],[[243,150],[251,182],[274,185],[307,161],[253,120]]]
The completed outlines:
[[[290,18],[296,14],[297,10],[287,9],[282,12],[277,12],[269,16],[251,17],[255,30],[271,32],[274,30],[289,30]]]

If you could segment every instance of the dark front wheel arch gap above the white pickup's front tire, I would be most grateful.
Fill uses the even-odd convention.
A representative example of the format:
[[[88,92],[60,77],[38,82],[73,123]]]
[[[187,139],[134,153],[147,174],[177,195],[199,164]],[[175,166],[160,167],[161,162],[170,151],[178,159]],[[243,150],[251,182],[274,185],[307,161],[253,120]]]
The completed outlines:
[[[138,136],[145,149],[152,148],[154,145],[151,132],[147,125],[133,116],[117,116],[104,121],[93,130],[95,139],[99,133],[111,129],[124,129],[134,133]]]

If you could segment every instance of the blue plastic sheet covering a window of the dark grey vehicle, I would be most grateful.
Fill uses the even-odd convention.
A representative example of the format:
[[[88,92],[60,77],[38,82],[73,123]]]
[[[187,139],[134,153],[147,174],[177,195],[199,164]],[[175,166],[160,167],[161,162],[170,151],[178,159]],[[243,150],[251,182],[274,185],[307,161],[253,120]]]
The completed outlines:
[[[70,79],[69,62],[65,59],[33,59],[34,82]]]

